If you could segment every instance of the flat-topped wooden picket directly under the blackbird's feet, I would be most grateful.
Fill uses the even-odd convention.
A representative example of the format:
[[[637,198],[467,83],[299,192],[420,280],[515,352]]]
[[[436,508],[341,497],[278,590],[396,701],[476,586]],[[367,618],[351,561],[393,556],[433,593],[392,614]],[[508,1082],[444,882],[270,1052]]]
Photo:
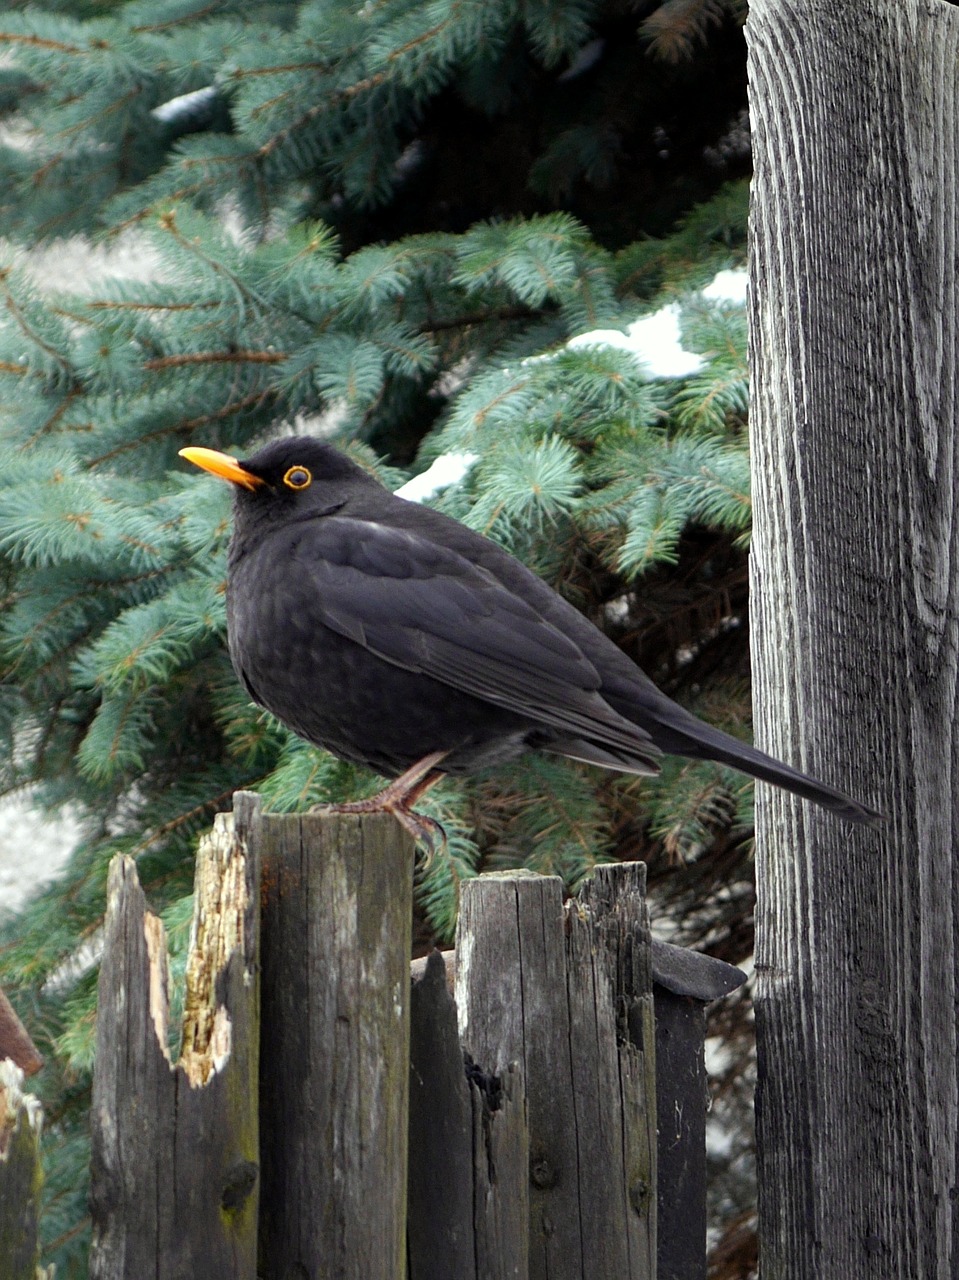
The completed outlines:
[[[265,814],[260,1275],[405,1274],[412,840]]]

